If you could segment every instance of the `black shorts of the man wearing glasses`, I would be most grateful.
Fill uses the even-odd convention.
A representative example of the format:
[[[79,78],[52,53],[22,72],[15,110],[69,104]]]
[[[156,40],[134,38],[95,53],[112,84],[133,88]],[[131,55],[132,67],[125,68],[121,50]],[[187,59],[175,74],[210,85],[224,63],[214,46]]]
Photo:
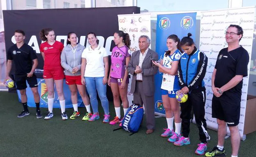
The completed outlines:
[[[240,119],[240,102],[225,101],[225,97],[213,96],[212,117],[226,121],[228,126],[237,126]]]

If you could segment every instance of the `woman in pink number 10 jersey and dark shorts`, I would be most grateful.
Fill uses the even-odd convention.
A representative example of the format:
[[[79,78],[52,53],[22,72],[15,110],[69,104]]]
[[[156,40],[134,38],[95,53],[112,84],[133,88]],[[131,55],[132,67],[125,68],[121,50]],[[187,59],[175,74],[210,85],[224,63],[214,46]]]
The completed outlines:
[[[114,107],[116,111],[116,117],[110,121],[111,125],[122,121],[120,96],[123,102],[124,114],[126,114],[129,107],[127,99],[129,79],[128,71],[126,70],[130,61],[130,54],[128,53],[130,47],[129,34],[123,33],[123,31],[115,32],[114,43],[116,46],[112,49],[110,75],[107,82],[113,93]]]

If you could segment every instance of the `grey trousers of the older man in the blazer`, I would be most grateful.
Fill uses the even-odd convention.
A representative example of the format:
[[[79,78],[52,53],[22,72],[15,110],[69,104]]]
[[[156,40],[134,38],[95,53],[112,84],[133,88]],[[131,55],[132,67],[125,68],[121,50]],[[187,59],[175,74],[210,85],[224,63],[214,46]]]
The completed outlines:
[[[133,93],[133,103],[144,104],[146,114],[146,128],[155,128],[155,106],[154,96],[146,96],[143,92],[142,82],[136,81],[135,92]]]

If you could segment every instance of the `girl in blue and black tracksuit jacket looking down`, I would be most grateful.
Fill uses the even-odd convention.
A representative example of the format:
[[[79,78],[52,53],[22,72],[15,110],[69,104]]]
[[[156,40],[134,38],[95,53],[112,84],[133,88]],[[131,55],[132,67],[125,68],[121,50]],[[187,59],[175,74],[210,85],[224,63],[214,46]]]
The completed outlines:
[[[198,155],[203,155],[207,149],[207,141],[210,140],[206,128],[206,119],[204,118],[204,105],[206,101],[206,88],[204,87],[203,78],[206,74],[207,61],[206,55],[199,51],[192,38],[192,34],[188,33],[181,40],[181,48],[184,53],[181,55],[178,64],[178,81],[181,86],[179,93],[188,94],[185,103],[181,103],[181,127],[182,137],[174,143],[176,146],[190,144],[190,114],[193,108],[197,127],[199,129],[199,140],[201,143],[195,151]]]

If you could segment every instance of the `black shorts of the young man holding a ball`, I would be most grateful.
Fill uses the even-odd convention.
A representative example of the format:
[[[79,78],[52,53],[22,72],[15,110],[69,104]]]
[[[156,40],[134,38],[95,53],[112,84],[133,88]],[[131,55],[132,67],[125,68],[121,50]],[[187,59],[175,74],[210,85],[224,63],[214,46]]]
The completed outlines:
[[[37,76],[33,74],[32,77],[27,77],[27,74],[14,75],[14,81],[16,84],[17,90],[24,90],[27,88],[27,83],[30,85],[30,88],[37,87]],[[27,83],[26,83],[27,81]]]

